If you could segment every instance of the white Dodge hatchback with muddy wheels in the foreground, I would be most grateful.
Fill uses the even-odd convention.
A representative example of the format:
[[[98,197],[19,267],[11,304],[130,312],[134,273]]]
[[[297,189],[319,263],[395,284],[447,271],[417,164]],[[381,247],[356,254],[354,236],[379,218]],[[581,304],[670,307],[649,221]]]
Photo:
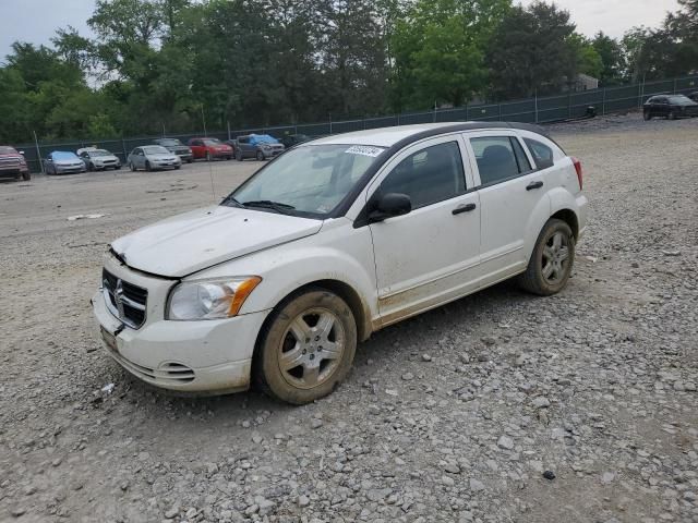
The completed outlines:
[[[94,312],[109,354],[148,384],[255,382],[306,403],[383,327],[513,277],[559,292],[586,227],[581,188],[579,161],[526,124],[315,139],[220,205],[113,242]]]

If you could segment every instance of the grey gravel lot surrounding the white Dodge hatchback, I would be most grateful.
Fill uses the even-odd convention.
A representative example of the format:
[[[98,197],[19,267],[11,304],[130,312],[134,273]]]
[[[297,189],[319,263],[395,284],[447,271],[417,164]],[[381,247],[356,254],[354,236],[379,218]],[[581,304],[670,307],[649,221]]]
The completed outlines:
[[[0,521],[698,522],[698,120],[552,132],[592,208],[566,291],[390,327],[303,408],[133,381],[88,305],[109,241],[257,162],[0,184]]]

